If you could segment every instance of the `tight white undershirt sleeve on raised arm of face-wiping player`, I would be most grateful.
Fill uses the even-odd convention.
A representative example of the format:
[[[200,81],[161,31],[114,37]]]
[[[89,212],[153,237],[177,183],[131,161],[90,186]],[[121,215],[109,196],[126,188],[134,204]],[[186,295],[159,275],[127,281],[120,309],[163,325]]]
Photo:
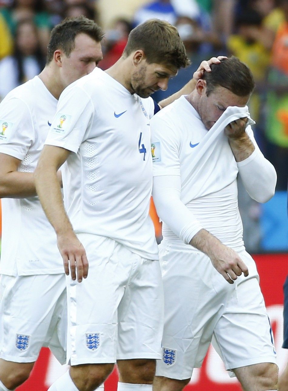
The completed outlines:
[[[255,151],[249,158],[237,163],[244,187],[257,202],[267,202],[275,193],[277,174],[274,166],[260,151],[252,130],[247,132],[254,143]]]

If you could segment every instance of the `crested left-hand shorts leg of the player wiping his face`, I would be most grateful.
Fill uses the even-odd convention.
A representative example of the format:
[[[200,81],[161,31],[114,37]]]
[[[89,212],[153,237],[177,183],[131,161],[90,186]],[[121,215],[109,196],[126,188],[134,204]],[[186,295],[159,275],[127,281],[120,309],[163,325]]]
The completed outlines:
[[[164,241],[160,261],[165,321],[156,375],[184,380],[202,364],[229,284],[217,275],[207,256],[188,246]]]

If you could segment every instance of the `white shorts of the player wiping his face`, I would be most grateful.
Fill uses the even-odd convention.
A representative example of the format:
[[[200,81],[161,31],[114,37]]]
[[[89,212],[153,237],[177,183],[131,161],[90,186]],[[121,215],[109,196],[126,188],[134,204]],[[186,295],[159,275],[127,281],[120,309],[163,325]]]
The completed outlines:
[[[229,284],[210,258],[191,246],[164,239],[159,248],[165,309],[156,376],[190,378],[193,368],[201,367],[212,336],[227,370],[276,363],[256,264],[246,251],[239,255],[249,276]]]

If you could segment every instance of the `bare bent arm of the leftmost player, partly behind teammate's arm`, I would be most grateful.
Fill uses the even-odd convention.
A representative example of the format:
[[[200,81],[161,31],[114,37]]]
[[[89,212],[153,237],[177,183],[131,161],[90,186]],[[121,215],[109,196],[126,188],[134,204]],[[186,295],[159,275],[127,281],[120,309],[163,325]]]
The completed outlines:
[[[21,160],[0,153],[0,198],[26,198],[36,194],[33,172],[17,171]],[[57,172],[62,185],[61,172]]]

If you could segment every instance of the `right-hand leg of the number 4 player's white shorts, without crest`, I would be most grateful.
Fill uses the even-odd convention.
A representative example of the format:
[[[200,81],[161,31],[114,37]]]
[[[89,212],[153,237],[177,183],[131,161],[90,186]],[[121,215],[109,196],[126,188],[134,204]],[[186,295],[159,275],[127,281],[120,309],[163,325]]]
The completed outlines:
[[[159,261],[126,251],[135,267],[118,308],[117,359],[159,359],[164,310]]]

